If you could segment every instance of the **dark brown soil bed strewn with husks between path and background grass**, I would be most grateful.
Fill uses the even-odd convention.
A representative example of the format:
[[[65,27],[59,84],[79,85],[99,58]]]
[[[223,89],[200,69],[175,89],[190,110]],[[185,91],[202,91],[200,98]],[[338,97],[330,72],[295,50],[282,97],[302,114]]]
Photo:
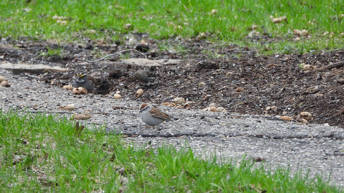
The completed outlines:
[[[28,41],[2,39],[0,62],[43,63],[70,69],[68,72],[49,72],[39,75],[47,84],[63,86],[73,81],[77,72],[101,71],[96,75],[98,88],[95,93],[106,95],[119,91],[123,99],[142,102],[172,102],[177,96],[190,101],[192,109],[204,109],[211,103],[224,107],[228,112],[241,114],[287,115],[294,119],[300,112],[308,111],[313,120],[310,123],[328,123],[344,126],[342,84],[343,68],[305,73],[299,64],[310,64],[317,68],[343,60],[344,50],[317,54],[290,54],[257,56],[256,50],[236,45],[219,47],[206,40],[181,38],[169,40],[149,39],[147,34],[132,35],[136,41],[90,41],[82,44],[49,41]],[[148,46],[139,45],[146,39]],[[128,38],[129,39],[129,38]],[[159,43],[168,42],[184,47],[184,52],[159,50]],[[63,49],[61,56],[44,56],[49,49]],[[153,86],[147,87],[132,82],[132,73],[142,67],[121,63],[120,56],[110,57],[106,62],[80,63],[78,58],[95,60],[106,54],[137,48],[149,59],[185,59],[178,65],[148,68],[162,76]],[[150,50],[148,50],[150,49]],[[148,50],[148,51],[147,51]],[[152,51],[154,50],[154,51]],[[202,52],[205,51],[205,52]],[[221,54],[217,59],[209,59]],[[40,55],[41,54],[41,55]],[[143,56],[131,52],[131,58]],[[111,63],[109,61],[112,61]],[[237,88],[243,88],[239,91]],[[135,92],[142,88],[144,94],[138,99]],[[237,92],[239,91],[239,92]],[[277,106],[266,111],[268,106]]]

